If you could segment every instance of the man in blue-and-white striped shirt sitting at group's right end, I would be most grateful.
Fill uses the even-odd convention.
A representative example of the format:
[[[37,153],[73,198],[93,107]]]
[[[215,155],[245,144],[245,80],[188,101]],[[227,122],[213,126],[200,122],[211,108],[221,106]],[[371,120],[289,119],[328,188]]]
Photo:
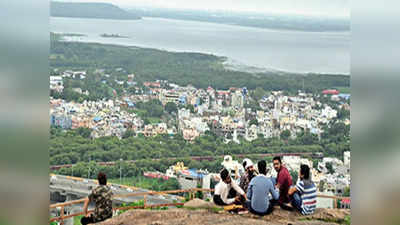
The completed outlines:
[[[289,189],[292,196],[292,206],[303,215],[313,214],[317,206],[317,187],[310,178],[310,168],[307,165],[300,166],[300,180],[296,186]]]

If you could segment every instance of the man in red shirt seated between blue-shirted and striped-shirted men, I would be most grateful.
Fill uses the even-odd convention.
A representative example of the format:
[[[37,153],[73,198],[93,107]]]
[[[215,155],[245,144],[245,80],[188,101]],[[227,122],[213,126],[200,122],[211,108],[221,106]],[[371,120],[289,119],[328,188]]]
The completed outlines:
[[[281,157],[275,156],[272,160],[274,169],[278,173],[276,187],[279,188],[279,205],[286,205],[290,202],[289,188],[292,186],[292,177],[286,167],[282,165]]]

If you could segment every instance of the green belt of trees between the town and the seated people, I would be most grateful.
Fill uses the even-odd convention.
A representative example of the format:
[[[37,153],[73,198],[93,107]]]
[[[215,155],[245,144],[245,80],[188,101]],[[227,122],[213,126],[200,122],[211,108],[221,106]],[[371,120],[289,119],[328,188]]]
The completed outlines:
[[[86,128],[62,130],[52,127],[50,134],[50,164],[76,164],[74,175],[85,176],[88,168],[105,170],[110,177],[119,176],[119,165],[105,167],[96,165],[96,161],[136,160],[134,164],[124,164],[127,177],[141,176],[143,171],[165,171],[170,165],[183,161],[191,168],[208,169],[217,172],[221,168],[221,159],[213,161],[194,161],[190,156],[215,156],[252,153],[281,153],[281,152],[323,152],[325,156],[343,157],[344,151],[350,150],[350,126],[342,122],[332,123],[325,127],[325,133],[317,136],[302,132],[297,138],[285,139],[263,138],[248,142],[240,139],[241,143],[225,144],[221,137],[211,132],[200,136],[193,143],[185,141],[181,135],[170,138],[167,135],[155,137],[125,136],[101,137],[90,139],[90,131]],[[176,157],[176,159],[168,159]],[[251,158],[251,157],[250,157]],[[158,160],[152,160],[158,159]],[[90,163],[88,163],[90,160]],[[259,160],[259,158],[254,158]],[[269,159],[270,160],[270,159]],[[71,168],[58,171],[61,174],[72,173]]]

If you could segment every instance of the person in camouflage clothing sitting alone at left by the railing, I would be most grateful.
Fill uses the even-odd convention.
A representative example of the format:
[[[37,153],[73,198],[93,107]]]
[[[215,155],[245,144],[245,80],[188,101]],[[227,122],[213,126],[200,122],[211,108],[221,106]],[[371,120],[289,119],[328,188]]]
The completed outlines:
[[[112,191],[107,186],[107,177],[104,173],[100,172],[97,176],[99,186],[92,190],[92,193],[85,201],[83,210],[86,217],[81,219],[81,224],[86,225],[90,223],[97,223],[112,217]],[[94,202],[96,207],[94,213],[88,215],[87,209],[90,202]]]

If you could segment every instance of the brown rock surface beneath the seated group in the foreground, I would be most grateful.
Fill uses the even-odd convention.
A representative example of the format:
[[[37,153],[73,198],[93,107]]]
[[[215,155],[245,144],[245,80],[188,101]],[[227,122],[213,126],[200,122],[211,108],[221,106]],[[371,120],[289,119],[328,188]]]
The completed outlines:
[[[314,225],[341,223],[349,210],[317,209],[312,216],[275,209],[271,215],[259,217],[252,214],[232,215],[215,213],[207,209],[130,210],[99,225]],[[324,222],[332,221],[332,222]]]

